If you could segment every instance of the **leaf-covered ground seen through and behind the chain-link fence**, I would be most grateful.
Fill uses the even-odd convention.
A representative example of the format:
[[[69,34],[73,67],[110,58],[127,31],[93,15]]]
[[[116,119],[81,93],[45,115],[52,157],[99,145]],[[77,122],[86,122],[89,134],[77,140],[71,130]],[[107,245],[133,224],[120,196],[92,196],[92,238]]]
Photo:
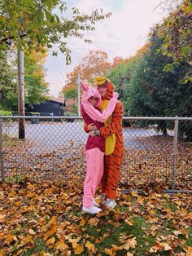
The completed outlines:
[[[32,142],[8,141],[4,149],[4,161],[7,181],[71,180],[71,174],[81,180],[85,177],[85,145],[71,142],[57,150],[43,148]],[[120,188],[168,188],[172,185],[172,137],[152,136],[135,139],[142,148],[125,148]],[[131,145],[130,145],[131,146]],[[192,189],[192,143],[179,141],[175,188]]]

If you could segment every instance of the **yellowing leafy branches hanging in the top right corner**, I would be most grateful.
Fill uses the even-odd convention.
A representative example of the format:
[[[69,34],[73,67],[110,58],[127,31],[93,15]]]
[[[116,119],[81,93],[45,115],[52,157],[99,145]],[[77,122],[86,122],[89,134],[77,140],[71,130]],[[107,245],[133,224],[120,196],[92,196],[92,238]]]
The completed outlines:
[[[181,62],[190,63],[191,19],[191,1],[184,0],[159,26],[158,35],[163,39],[159,50],[163,55],[172,57],[171,64],[167,64],[164,70],[172,71],[172,68]]]

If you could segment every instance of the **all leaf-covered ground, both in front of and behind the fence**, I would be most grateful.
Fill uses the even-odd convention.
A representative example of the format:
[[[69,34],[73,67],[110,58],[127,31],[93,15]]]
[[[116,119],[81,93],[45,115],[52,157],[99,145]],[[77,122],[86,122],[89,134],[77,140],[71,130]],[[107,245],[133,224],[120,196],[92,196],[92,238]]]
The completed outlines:
[[[140,139],[143,148],[124,150],[118,206],[97,216],[81,211],[83,145],[35,157],[31,143],[8,144],[0,255],[192,255],[192,195],[163,192],[171,183],[172,139]],[[179,142],[176,188],[192,189],[191,174],[191,143]]]

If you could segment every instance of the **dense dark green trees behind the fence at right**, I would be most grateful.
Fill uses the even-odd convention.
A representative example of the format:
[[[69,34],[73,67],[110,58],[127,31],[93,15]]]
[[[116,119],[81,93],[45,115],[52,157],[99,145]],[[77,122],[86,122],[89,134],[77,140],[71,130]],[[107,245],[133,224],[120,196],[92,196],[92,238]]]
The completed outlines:
[[[182,78],[189,72],[190,65],[180,63],[165,72],[164,67],[172,62],[170,57],[161,55],[158,49],[162,45],[161,38],[153,33],[151,49],[144,55],[141,64],[130,82],[129,115],[156,117],[190,117],[192,113],[192,85],[182,83]],[[142,122],[143,124],[143,122]],[[181,134],[191,138],[190,124],[182,126]],[[158,123],[159,130],[166,134],[164,121]]]

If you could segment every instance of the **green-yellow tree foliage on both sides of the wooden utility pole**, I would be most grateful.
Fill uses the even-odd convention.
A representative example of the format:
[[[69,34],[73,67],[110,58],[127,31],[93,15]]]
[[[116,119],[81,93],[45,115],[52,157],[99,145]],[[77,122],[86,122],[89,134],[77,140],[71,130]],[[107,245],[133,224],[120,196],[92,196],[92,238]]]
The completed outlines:
[[[16,112],[18,86],[15,79],[15,64],[8,63],[8,59],[7,52],[0,52],[0,100],[2,108]],[[30,55],[24,55],[24,64],[25,104],[39,104],[46,100],[47,84],[44,80],[44,71]]]

